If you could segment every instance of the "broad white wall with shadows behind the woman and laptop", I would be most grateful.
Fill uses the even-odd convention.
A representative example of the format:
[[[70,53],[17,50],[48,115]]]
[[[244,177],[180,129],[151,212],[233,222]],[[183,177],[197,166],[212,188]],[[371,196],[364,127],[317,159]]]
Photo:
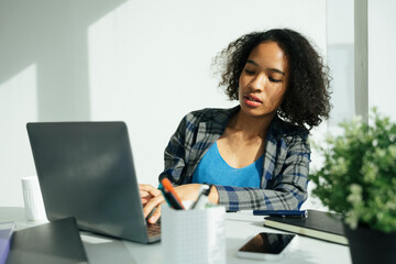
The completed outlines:
[[[292,28],[326,55],[326,0],[0,0],[0,206],[35,173],[28,121],[123,120],[139,180],[191,110],[230,107],[211,58],[244,33]]]

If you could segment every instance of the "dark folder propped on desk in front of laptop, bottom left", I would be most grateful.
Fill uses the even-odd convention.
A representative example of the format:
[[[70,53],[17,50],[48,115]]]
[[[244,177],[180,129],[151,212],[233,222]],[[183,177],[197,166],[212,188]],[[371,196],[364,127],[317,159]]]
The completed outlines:
[[[7,264],[88,263],[76,220],[67,218],[14,233]]]

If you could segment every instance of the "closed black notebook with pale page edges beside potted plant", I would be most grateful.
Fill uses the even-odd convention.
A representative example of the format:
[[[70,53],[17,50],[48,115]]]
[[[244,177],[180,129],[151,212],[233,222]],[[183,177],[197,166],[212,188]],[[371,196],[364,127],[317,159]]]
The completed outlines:
[[[267,217],[264,227],[348,245],[338,213],[308,210],[308,218]]]

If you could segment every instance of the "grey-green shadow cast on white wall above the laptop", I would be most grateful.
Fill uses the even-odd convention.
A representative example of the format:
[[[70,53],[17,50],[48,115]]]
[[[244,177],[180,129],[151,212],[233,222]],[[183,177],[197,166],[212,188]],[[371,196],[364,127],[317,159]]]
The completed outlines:
[[[89,120],[87,31],[124,1],[2,0],[0,85],[35,64],[38,121]]]

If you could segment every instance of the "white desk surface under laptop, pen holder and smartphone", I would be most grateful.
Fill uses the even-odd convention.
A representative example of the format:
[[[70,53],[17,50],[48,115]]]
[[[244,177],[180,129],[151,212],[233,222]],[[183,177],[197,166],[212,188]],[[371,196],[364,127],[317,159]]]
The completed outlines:
[[[0,222],[15,221],[16,230],[33,227],[43,222],[26,221],[23,208],[0,207]],[[248,213],[227,213],[226,220],[226,243],[227,263],[261,263],[237,257],[237,251],[250,238],[258,232],[279,232],[263,227],[263,217],[254,217]],[[88,232],[80,232],[81,239],[89,258],[92,264],[100,263],[129,263],[129,264],[161,264],[162,249],[161,243],[139,244],[128,241],[99,237]],[[271,262],[266,262],[271,263]],[[349,248],[316,239],[298,237],[297,243],[282,262],[274,263],[351,263]]]

